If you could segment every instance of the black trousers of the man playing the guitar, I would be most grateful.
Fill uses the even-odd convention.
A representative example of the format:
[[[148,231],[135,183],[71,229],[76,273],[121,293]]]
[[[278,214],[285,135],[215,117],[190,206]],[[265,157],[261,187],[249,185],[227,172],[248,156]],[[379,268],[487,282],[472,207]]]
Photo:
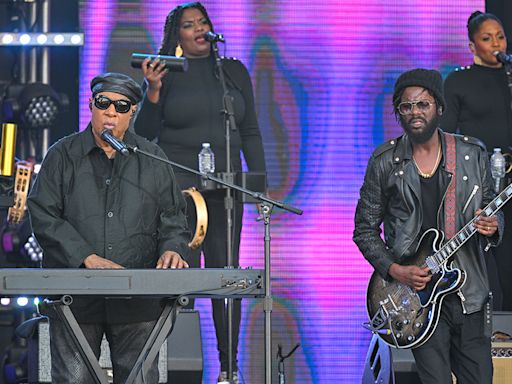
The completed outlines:
[[[422,384],[492,384],[490,330],[485,311],[462,313],[456,294],[443,301],[441,315],[432,337],[412,350]]]

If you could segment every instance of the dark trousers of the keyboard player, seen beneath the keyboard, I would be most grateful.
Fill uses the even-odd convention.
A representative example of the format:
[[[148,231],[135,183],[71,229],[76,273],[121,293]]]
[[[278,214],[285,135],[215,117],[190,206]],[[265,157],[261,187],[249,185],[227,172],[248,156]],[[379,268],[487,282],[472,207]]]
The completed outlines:
[[[124,384],[137,361],[137,357],[149,337],[156,321],[134,324],[80,324],[96,358],[100,356],[103,334],[110,347],[110,357],[114,371],[114,383]],[[50,349],[52,357],[53,384],[94,384],[81,355],[75,348],[72,336],[58,319],[50,319]],[[158,355],[151,365],[144,384],[157,384]]]

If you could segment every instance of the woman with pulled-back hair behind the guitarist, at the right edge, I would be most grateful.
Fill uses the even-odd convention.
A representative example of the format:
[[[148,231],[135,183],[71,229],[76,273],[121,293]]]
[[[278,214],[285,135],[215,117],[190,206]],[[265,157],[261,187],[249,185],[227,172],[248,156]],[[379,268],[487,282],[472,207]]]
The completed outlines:
[[[498,147],[503,153],[509,153],[512,147],[512,109],[508,84],[512,78],[507,78],[505,66],[495,55],[507,50],[503,25],[495,15],[476,11],[469,17],[467,29],[474,63],[457,69],[446,78],[447,107],[441,127],[446,132],[481,139],[490,153]],[[503,241],[493,250],[495,257],[490,254],[487,267],[495,296],[494,308],[512,310],[512,205],[509,203],[503,209]]]

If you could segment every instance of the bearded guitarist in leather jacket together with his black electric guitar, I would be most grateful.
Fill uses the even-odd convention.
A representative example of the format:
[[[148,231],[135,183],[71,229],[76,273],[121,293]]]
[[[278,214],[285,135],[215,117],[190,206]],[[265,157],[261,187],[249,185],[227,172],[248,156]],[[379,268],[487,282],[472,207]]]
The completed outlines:
[[[401,74],[393,107],[405,132],[373,152],[355,213],[354,241],[375,269],[366,326],[414,348],[423,384],[451,384],[451,372],[491,384],[485,257],[512,187],[494,199],[484,145],[439,129],[439,72]]]

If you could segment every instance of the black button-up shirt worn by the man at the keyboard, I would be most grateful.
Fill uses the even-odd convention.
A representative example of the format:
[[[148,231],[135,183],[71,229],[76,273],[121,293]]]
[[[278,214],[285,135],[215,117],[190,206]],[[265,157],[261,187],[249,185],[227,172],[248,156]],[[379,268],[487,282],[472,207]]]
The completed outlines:
[[[124,140],[164,156],[135,134],[126,132]],[[28,208],[45,268],[82,268],[93,253],[125,268],[155,268],[167,250],[185,255],[190,238],[172,169],[135,154],[109,160],[91,126],[50,148]],[[78,321],[88,323],[149,321],[161,312],[158,300],[146,298],[75,297],[71,308]]]

